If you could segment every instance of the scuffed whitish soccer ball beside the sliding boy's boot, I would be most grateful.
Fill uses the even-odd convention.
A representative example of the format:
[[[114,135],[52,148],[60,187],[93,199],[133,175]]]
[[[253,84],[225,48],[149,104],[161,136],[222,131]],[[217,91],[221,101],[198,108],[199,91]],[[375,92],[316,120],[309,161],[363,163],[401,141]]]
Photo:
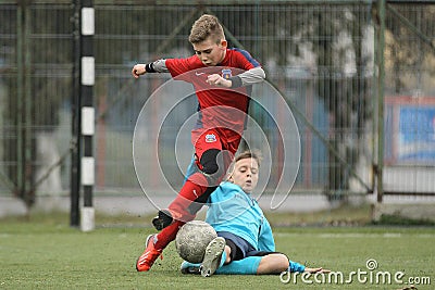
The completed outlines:
[[[175,248],[179,256],[190,263],[201,263],[206,248],[217,237],[212,226],[202,220],[186,223],[177,232]]]

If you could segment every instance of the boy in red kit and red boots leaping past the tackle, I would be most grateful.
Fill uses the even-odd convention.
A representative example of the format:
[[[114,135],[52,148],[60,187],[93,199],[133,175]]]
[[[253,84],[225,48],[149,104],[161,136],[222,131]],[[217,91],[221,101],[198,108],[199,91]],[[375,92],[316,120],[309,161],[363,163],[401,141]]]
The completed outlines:
[[[152,219],[162,231],[147,238],[146,249],[136,262],[138,272],[150,269],[179,227],[195,218],[222,181],[241,140],[250,85],[265,77],[248,52],[227,48],[215,16],[199,17],[191,27],[189,41],[196,55],[136,64],[132,70],[135,78],[146,73],[171,73],[174,79],[191,83],[199,102],[197,126],[191,131],[196,171],[167,210],[159,211]]]

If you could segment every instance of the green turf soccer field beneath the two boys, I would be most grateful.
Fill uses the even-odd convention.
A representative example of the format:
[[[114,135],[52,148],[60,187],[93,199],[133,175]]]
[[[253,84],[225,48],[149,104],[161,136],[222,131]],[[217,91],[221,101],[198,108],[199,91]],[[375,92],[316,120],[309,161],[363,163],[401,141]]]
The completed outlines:
[[[149,273],[135,260],[151,228],[82,232],[67,216],[0,220],[0,289],[434,289],[435,229],[430,227],[276,228],[277,250],[325,276],[183,275],[174,243]],[[368,262],[369,261],[369,262]]]

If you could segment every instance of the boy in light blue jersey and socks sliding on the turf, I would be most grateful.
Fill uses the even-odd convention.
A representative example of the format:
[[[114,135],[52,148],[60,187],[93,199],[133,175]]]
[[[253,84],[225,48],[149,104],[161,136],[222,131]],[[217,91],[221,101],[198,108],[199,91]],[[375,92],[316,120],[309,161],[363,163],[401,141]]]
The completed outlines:
[[[260,156],[247,151],[235,159],[227,181],[222,182],[208,203],[206,222],[217,232],[201,264],[183,262],[182,273],[260,275],[295,272],[328,272],[309,268],[275,251],[271,226],[251,197],[259,178]]]

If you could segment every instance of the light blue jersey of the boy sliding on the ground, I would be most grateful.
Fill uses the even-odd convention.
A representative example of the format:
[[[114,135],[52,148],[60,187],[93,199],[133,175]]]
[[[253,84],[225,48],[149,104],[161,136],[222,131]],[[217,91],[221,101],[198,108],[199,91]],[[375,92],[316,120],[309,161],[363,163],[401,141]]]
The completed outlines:
[[[211,193],[206,222],[216,231],[244,238],[258,251],[275,251],[271,225],[257,200],[232,182],[222,182]]]

